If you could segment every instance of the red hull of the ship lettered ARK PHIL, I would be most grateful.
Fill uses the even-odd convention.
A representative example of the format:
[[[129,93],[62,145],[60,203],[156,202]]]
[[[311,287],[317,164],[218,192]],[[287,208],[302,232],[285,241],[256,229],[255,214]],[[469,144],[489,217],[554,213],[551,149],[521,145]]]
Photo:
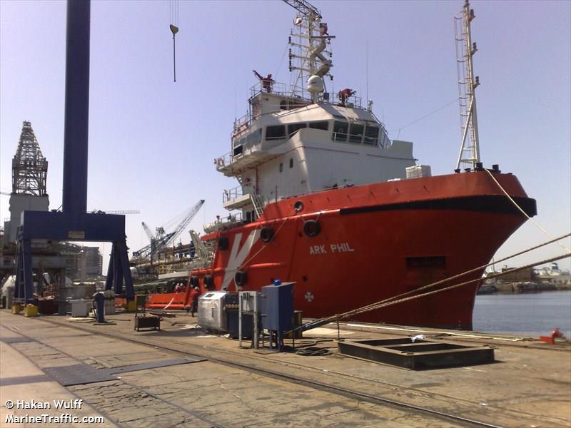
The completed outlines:
[[[495,173],[495,178],[527,215],[535,215],[535,200],[527,198],[514,175]],[[315,236],[304,231],[310,220],[320,229]],[[258,290],[275,279],[295,281],[295,308],[304,317],[325,317],[485,265],[525,220],[485,171],[338,188],[279,200],[253,223],[206,235],[204,240],[216,242],[227,237],[228,245],[218,245],[210,269],[192,275],[202,292],[236,290],[236,272],[245,280],[243,290]],[[273,237],[264,242],[267,228]],[[479,285],[355,319],[470,330]],[[188,295],[153,295],[148,307],[169,302],[172,309],[182,309]]]

